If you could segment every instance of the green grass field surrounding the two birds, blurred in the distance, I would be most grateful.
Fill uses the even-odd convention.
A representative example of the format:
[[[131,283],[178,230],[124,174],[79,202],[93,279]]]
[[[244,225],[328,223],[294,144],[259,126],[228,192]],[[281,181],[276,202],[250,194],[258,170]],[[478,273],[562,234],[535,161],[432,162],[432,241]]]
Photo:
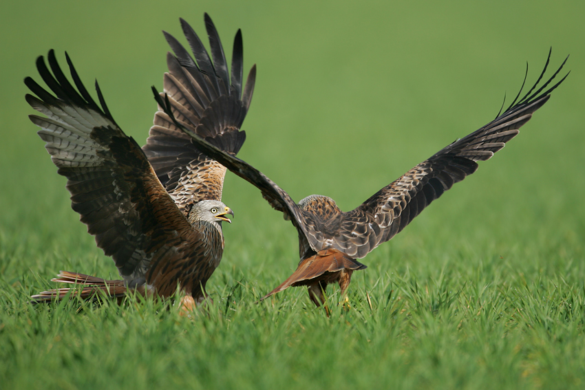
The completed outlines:
[[[356,2],[357,3],[357,2]],[[140,4],[140,5],[138,5]],[[440,5],[439,5],[440,4]],[[178,18],[203,12],[258,78],[240,157],[293,199],[343,210],[571,54],[571,75],[492,160],[363,259],[350,309],[306,290],[254,302],[298,260],[295,228],[228,173],[226,252],[208,314],[168,304],[33,306],[58,270],[117,277],[70,208],[22,80],[50,48],[100,81],[143,144]],[[585,5],[579,1],[20,1],[0,32],[1,389],[582,389],[585,387]],[[181,39],[182,42],[184,40]]]

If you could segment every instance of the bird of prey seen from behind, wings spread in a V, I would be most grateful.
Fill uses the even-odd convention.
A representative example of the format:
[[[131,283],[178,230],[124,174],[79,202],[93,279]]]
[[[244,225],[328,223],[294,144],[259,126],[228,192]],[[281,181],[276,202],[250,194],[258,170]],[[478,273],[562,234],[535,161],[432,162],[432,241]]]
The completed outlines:
[[[322,195],[310,195],[296,204],[288,193],[253,166],[224,153],[190,129],[182,128],[203,153],[259,188],[270,206],[284,213],[284,219],[292,221],[298,230],[297,270],[263,299],[290,286],[306,285],[311,301],[319,306],[326,301],[326,286],[336,281],[343,295],[352,272],[366,268],[357,259],[392,239],[434,199],[474,173],[478,161],[489,160],[502,149],[530,120],[532,113],[549,100],[551,91],[566,78],[546,89],[566,63],[565,59],[555,74],[540,85],[550,57],[551,52],[535,85],[522,98],[521,88],[504,113],[500,110],[501,115],[498,113],[496,119],[441,149],[348,212],[341,211],[333,199]],[[165,109],[166,104],[159,100]]]

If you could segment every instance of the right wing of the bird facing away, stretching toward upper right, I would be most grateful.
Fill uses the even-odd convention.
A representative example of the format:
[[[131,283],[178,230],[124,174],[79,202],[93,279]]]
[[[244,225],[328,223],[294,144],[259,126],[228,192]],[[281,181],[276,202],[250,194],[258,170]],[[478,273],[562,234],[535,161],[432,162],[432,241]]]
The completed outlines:
[[[516,102],[522,92],[520,89],[504,113],[421,162],[358,208],[344,213],[341,228],[332,237],[332,246],[355,258],[364,257],[403,230],[423,208],[453,184],[474,173],[478,169],[478,161],[489,160],[493,153],[502,149],[506,142],[518,135],[518,129],[530,120],[532,113],[549,100],[551,91],[568,76],[543,92],[566,63],[565,59],[557,72],[539,86],[550,58],[551,52],[535,85]],[[534,91],[537,87],[538,90]]]

